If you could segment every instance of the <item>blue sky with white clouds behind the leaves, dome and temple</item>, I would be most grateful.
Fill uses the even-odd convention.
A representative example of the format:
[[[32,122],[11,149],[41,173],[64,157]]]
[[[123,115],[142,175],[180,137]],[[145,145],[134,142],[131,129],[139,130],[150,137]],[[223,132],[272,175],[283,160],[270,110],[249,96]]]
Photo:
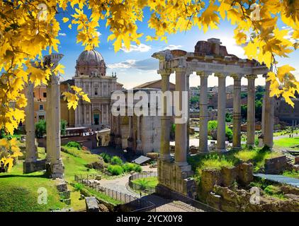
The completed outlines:
[[[72,11],[69,11],[69,13],[72,14]],[[57,16],[57,18],[61,20],[64,16],[66,15],[61,13]],[[144,36],[140,39],[141,44],[137,47],[135,43],[132,43],[130,52],[122,49],[115,53],[113,50],[113,42],[107,42],[107,37],[110,35],[110,32],[105,27],[106,21],[100,22],[99,32],[101,35],[99,39],[101,43],[96,50],[102,54],[106,62],[106,66],[108,66],[107,74],[111,75],[112,71],[116,71],[118,82],[123,83],[125,88],[133,88],[141,83],[160,79],[160,76],[157,74],[158,61],[151,57],[154,52],[167,48],[184,49],[187,52],[193,52],[196,42],[199,40],[207,40],[210,37],[220,38],[222,45],[227,47],[227,52],[230,54],[235,54],[240,58],[246,58],[242,47],[237,46],[233,38],[234,26],[230,25],[227,21],[221,20],[218,30],[209,30],[206,33],[195,27],[187,32],[178,32],[174,35],[168,35],[168,42],[165,43],[160,41],[145,42],[145,37],[147,35],[153,35],[153,30],[147,28],[148,18],[149,12],[146,11],[144,22],[138,24],[139,32],[144,33]],[[76,43],[76,26],[73,26],[72,30],[69,30],[67,25],[68,23],[61,23],[62,29],[60,30],[59,36],[61,42],[59,50],[60,53],[64,54],[64,58],[61,61],[61,63],[65,66],[65,74],[63,76],[64,80],[74,76],[76,60],[79,57],[79,54],[84,51],[84,47],[81,46],[81,43]],[[283,27],[282,24],[281,27]],[[290,58],[278,59],[278,61],[279,64],[290,64],[295,67],[295,69],[297,69],[295,75],[299,79],[298,59],[299,52],[297,50],[290,54]],[[171,75],[170,80],[171,82],[175,82],[174,75]],[[232,78],[227,78],[227,85],[232,83]],[[217,84],[217,78],[210,76],[208,79],[208,85],[213,86]],[[245,78],[242,78],[242,84],[247,84]],[[200,80],[195,74],[190,77],[190,85],[200,85]],[[264,85],[264,78],[259,76],[256,80],[256,85]]]

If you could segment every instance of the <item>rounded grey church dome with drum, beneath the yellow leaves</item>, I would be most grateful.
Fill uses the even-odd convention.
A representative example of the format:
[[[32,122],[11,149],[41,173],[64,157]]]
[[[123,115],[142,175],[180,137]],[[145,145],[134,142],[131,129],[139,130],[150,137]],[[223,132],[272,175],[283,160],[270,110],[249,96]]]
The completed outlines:
[[[106,64],[95,49],[84,50],[77,59],[76,76],[106,76]]]

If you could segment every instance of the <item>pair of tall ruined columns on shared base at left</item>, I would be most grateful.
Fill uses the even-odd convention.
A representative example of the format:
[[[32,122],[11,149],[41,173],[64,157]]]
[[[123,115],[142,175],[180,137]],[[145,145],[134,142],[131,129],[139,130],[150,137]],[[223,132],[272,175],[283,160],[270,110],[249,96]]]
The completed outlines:
[[[45,64],[55,68],[63,54],[51,54],[44,57]],[[33,83],[28,83],[26,96],[26,160],[23,163],[23,172],[35,172],[47,169],[52,178],[64,177],[64,166],[60,155],[60,82],[52,73],[47,83],[47,156],[45,160],[38,160],[38,149],[35,145],[35,124],[33,109]]]

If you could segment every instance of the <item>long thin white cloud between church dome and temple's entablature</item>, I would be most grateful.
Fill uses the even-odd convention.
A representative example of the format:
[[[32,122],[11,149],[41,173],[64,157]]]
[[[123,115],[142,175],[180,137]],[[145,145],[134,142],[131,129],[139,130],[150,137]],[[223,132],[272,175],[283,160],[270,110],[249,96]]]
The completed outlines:
[[[157,70],[159,61],[157,59],[143,59],[137,61],[135,59],[128,59],[115,64],[108,64],[109,69],[139,69],[144,71]]]

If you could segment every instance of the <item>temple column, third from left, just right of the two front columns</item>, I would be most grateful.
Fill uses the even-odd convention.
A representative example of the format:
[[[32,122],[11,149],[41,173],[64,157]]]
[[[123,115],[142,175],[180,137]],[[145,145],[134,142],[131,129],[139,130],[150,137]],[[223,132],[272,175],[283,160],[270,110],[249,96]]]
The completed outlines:
[[[199,100],[199,151],[208,152],[208,73],[197,72],[201,76],[201,95]]]

